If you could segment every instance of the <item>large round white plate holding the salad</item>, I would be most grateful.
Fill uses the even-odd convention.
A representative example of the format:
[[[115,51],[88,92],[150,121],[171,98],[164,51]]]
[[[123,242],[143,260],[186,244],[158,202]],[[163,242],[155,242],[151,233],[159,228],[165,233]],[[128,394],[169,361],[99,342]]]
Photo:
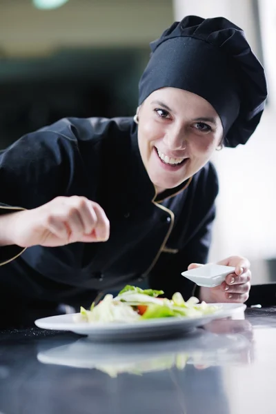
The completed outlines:
[[[89,335],[93,340],[135,340],[170,337],[188,332],[221,317],[233,317],[242,319],[244,304],[216,304],[219,311],[203,317],[164,317],[159,319],[147,319],[135,323],[76,323],[74,318],[79,315],[58,315],[37,319],[34,323],[43,329],[56,331],[72,331],[81,335]]]

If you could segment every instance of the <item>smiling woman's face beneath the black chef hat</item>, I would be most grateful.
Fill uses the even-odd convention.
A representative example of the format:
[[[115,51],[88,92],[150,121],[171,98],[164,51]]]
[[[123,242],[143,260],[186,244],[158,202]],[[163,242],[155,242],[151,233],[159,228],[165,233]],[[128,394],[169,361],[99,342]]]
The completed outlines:
[[[158,193],[200,170],[223,136],[213,106],[186,90],[155,90],[139,107],[138,117],[141,158]]]

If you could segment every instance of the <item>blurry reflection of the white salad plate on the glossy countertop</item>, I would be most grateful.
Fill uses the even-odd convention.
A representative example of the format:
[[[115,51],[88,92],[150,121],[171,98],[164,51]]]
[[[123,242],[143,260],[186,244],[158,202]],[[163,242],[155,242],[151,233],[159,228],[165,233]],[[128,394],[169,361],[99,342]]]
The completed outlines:
[[[207,368],[250,363],[250,322],[229,321],[228,332],[226,321],[222,322],[221,326],[212,322],[205,330],[199,328],[183,337],[161,341],[101,344],[86,337],[39,352],[37,358],[44,364],[96,368],[110,377],[117,377],[119,373],[142,375],[171,368],[183,370],[186,364]]]

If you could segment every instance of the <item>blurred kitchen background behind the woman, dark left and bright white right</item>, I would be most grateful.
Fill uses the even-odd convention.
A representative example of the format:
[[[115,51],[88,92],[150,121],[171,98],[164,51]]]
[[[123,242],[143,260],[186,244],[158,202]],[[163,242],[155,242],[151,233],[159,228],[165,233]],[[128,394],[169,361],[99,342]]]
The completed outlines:
[[[186,14],[233,20],[266,68],[259,128],[213,159],[221,190],[210,260],[244,255],[253,283],[276,281],[275,1],[0,0],[0,149],[61,117],[134,115],[148,43]]]

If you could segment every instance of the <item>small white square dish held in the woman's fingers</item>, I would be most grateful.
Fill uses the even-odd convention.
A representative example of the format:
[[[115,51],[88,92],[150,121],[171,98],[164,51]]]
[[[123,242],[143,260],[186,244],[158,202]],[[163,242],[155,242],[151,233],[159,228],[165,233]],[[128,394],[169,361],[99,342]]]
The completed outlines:
[[[230,275],[230,273],[235,273],[235,267],[221,266],[221,264],[205,264],[199,268],[186,270],[181,275],[195,282],[198,286],[213,288],[224,282],[226,276]]]

